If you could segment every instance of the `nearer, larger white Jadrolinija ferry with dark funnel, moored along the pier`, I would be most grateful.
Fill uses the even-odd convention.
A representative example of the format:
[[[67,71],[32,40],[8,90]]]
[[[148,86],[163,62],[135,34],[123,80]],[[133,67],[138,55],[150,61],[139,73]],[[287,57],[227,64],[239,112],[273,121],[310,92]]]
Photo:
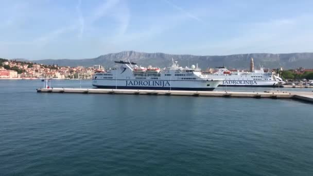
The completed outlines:
[[[213,91],[223,82],[203,75],[198,66],[183,68],[177,61],[164,69],[125,61],[115,63],[120,66],[96,73],[92,85],[103,89]]]

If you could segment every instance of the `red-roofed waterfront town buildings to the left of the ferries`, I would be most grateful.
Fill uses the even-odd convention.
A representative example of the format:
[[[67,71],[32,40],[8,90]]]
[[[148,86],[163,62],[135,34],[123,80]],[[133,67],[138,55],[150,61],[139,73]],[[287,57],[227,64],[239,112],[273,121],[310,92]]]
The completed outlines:
[[[94,73],[103,71],[101,65],[69,67],[0,59],[1,79],[91,79]]]

